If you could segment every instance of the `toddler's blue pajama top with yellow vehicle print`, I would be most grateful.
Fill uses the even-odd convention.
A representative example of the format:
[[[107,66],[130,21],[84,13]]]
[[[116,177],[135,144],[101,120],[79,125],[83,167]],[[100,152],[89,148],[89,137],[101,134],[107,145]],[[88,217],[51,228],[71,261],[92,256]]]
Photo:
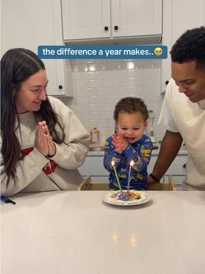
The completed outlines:
[[[144,134],[141,140],[130,144],[123,151],[123,153],[116,152],[112,142],[113,139],[111,136],[105,141],[105,155],[103,160],[105,169],[107,169],[110,173],[110,188],[119,190],[118,182],[115,177],[115,171],[111,165],[111,162],[115,162],[115,169],[118,173],[118,178],[122,189],[127,189],[130,162],[133,160],[134,164],[131,169],[130,189],[147,190],[147,167],[152,153],[152,141],[150,138]]]

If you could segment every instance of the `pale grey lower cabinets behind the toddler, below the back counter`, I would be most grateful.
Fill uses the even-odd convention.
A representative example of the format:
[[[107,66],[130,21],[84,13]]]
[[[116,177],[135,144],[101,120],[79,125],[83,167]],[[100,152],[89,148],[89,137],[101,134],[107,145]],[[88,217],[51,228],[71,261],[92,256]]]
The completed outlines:
[[[154,164],[156,162],[157,154],[152,155],[150,163],[148,164],[148,174],[152,173]],[[79,168],[82,176],[91,175],[92,182],[109,182],[109,172],[103,166],[104,153],[89,153],[83,166]],[[172,162],[171,166],[161,179],[161,182],[168,182],[168,176],[173,175],[176,184],[182,184],[185,176],[185,169],[183,165],[187,162],[187,155],[178,154]]]

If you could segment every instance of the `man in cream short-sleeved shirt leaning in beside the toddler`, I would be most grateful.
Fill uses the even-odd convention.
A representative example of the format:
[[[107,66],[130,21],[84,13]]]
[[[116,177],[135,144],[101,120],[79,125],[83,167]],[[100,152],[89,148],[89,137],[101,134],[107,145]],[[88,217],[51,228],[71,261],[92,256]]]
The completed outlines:
[[[170,51],[169,81],[159,124],[167,131],[148,183],[159,182],[182,140],[188,155],[185,190],[205,190],[205,27],[187,30]]]

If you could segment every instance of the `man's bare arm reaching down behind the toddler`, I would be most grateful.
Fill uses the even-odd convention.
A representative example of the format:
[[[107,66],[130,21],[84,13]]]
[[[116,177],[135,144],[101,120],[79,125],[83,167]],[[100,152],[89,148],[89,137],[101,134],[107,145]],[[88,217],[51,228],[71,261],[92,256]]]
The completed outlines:
[[[163,141],[161,143],[161,149],[159,151],[158,158],[154,164],[154,169],[152,175],[157,179],[161,179],[167,169],[169,169],[170,164],[176,158],[176,155],[182,145],[182,136],[179,132],[165,132]],[[156,182],[152,177],[148,176],[148,184]]]

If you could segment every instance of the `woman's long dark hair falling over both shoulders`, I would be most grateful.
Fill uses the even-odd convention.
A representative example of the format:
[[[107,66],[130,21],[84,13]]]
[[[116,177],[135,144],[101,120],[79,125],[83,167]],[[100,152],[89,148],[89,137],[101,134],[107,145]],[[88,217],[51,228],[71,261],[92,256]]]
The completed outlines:
[[[20,143],[15,134],[16,119],[18,121],[17,128],[20,121],[16,112],[14,92],[18,92],[22,82],[41,69],[45,69],[44,63],[28,49],[10,49],[1,59],[1,153],[5,173],[8,175],[7,184],[11,177],[15,180],[16,164],[22,157]],[[64,129],[59,124],[57,114],[53,111],[48,98],[46,101],[42,101],[40,110],[34,114],[46,121],[53,140],[61,144],[65,138]],[[56,131],[56,124],[61,128],[61,134]]]

